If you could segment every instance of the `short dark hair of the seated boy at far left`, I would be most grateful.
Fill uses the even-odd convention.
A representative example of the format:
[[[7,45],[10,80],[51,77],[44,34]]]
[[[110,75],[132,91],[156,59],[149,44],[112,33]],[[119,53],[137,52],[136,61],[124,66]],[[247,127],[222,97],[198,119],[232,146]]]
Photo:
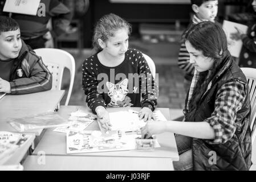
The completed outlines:
[[[0,34],[7,31],[15,31],[19,28],[19,24],[8,16],[0,16]]]

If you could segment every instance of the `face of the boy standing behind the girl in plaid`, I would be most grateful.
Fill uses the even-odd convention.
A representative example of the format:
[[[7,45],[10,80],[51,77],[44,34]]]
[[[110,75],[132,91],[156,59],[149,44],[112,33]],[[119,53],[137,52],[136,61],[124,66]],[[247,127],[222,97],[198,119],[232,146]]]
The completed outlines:
[[[206,1],[202,3],[200,7],[197,6],[195,13],[199,19],[213,22],[218,13],[218,1]]]

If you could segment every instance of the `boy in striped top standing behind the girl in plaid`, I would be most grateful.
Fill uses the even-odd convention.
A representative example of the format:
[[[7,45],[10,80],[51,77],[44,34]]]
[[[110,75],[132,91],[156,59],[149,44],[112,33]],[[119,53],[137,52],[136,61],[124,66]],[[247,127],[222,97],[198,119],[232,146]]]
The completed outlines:
[[[194,15],[188,29],[192,24],[197,24],[204,21],[214,22],[214,19],[218,13],[218,0],[191,0],[191,5]],[[190,88],[194,75],[194,66],[193,64],[189,63],[190,56],[189,52],[186,50],[184,41],[184,35],[187,30],[185,30],[184,34],[182,34],[180,52],[178,53],[178,67],[185,71],[184,88],[186,93]]]

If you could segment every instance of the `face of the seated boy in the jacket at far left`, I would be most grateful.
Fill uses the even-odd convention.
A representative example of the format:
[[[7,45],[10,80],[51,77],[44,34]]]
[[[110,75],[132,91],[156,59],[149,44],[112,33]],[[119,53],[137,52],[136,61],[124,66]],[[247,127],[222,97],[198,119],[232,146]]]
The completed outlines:
[[[0,34],[0,59],[14,59],[21,51],[21,32],[19,28],[15,31],[1,32]]]

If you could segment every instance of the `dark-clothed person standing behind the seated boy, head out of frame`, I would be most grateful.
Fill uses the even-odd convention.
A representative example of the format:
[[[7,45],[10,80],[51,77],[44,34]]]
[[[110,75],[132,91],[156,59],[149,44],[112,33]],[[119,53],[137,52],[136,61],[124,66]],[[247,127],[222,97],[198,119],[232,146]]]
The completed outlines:
[[[8,12],[3,12],[5,3],[6,0],[0,0],[0,15],[9,16]],[[32,49],[37,49],[54,47],[53,38],[70,31],[72,14],[58,0],[40,0],[36,15],[11,13],[11,18],[18,22],[24,42]],[[49,25],[52,26],[51,30]]]

